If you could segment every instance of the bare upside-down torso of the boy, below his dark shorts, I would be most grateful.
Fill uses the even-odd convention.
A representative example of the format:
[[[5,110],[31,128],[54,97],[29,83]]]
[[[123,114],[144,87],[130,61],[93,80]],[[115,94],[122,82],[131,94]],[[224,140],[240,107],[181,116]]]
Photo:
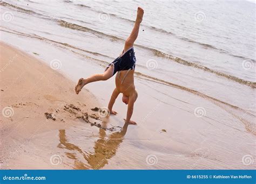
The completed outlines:
[[[125,96],[130,96],[135,91],[134,86],[134,69],[130,70],[125,79],[124,76],[127,73],[127,70],[123,70],[117,73],[116,75],[116,88],[120,93],[123,93]],[[124,79],[123,83],[122,80]]]

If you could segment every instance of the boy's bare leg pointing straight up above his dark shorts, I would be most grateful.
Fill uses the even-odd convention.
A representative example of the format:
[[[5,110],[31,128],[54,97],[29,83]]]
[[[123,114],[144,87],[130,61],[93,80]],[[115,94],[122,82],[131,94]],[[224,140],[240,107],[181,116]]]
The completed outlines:
[[[125,41],[125,46],[124,46],[124,53],[133,46],[134,41],[137,39],[138,34],[139,34],[139,26],[140,23],[142,23],[142,19],[143,19],[143,14],[144,14],[144,10],[140,7],[138,7],[137,10],[137,18],[134,24],[134,27],[132,29],[132,32],[130,34],[130,36],[126,39]]]

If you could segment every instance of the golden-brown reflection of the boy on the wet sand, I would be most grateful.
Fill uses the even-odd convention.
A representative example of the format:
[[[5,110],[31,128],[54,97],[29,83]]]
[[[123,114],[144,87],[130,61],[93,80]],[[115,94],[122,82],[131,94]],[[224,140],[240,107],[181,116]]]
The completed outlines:
[[[59,130],[59,141],[57,147],[64,148],[70,151],[77,151],[87,161],[84,163],[79,160],[80,155],[76,152],[65,152],[66,156],[74,160],[74,169],[100,169],[104,167],[108,160],[111,159],[117,152],[120,143],[123,142],[128,124],[124,124],[120,132],[114,132],[110,136],[106,136],[106,130],[99,129],[99,139],[95,141],[94,152],[87,153],[79,146],[69,143],[66,138],[65,130]]]

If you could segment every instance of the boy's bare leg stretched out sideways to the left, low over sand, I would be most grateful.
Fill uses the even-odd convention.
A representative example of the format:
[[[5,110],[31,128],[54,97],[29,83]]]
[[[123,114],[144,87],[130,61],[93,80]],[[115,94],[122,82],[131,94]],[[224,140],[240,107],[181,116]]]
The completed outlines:
[[[96,81],[106,81],[113,75],[114,66],[111,65],[103,74],[95,74],[86,79],[79,79],[77,86],[75,88],[76,94],[80,92],[80,90],[88,83],[96,82]]]

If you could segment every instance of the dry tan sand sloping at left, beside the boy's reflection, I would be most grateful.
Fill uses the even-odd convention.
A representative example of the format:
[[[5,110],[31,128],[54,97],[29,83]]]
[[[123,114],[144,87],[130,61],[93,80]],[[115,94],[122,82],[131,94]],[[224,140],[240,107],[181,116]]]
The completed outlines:
[[[97,101],[86,90],[76,95],[75,83],[33,56],[4,43],[0,46],[1,168],[56,168],[51,161],[58,161],[52,155],[57,155],[59,130],[79,123],[92,123],[92,131],[102,128],[101,118],[90,110]]]

